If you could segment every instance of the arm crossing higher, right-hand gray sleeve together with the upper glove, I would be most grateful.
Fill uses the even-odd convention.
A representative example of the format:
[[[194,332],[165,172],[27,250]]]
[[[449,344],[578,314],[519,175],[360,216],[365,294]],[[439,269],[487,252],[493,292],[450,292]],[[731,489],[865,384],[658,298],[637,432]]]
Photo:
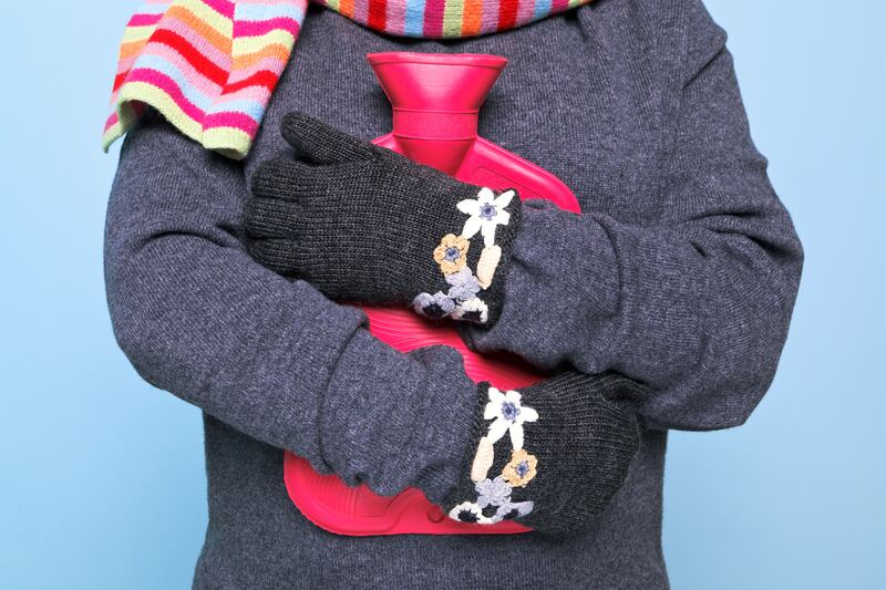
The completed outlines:
[[[521,206],[295,113],[295,157],[253,177],[250,255],[336,300],[462,320],[480,351],[645,382],[651,426],[743,423],[773,379],[803,255],[725,35],[691,4],[653,221]]]

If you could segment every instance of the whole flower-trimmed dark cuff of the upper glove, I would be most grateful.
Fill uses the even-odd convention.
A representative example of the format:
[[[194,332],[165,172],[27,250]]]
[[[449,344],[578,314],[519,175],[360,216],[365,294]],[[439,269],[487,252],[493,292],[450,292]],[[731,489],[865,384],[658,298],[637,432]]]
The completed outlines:
[[[437,290],[419,293],[412,307],[427,318],[492,325],[504,300],[505,268],[521,222],[519,197],[514,189],[496,196],[484,187],[455,207],[465,216],[464,226],[459,234],[442,236],[432,253],[441,275]]]

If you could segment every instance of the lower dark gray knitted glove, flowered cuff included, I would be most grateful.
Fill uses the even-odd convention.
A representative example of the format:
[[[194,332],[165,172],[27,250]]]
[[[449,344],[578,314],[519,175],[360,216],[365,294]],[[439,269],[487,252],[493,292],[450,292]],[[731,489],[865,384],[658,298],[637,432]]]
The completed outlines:
[[[450,518],[515,519],[578,532],[621,487],[639,445],[632,402],[645,387],[616,373],[562,373],[519,391],[481,383],[474,436]]]

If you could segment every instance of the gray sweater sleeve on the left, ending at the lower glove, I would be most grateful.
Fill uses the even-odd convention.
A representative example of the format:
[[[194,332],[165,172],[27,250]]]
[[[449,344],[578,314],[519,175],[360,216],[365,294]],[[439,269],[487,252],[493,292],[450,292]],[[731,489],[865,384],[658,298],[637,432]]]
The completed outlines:
[[[245,195],[238,163],[165,122],[130,133],[105,231],[121,348],[153,385],[321,470],[441,499],[476,403],[459,353],[401,354],[360,311],[254,262],[240,241]]]

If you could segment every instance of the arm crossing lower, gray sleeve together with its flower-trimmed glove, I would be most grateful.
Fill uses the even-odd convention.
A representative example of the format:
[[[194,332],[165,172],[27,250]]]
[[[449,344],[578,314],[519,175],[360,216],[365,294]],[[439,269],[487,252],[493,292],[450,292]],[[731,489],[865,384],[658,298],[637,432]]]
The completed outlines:
[[[637,452],[641,386],[568,373],[498,392],[471,382],[453,349],[402,354],[361,312],[246,255],[245,194],[239,164],[168,124],[130,133],[106,287],[145,380],[351,485],[420,487],[455,519],[566,535],[604,509]]]

